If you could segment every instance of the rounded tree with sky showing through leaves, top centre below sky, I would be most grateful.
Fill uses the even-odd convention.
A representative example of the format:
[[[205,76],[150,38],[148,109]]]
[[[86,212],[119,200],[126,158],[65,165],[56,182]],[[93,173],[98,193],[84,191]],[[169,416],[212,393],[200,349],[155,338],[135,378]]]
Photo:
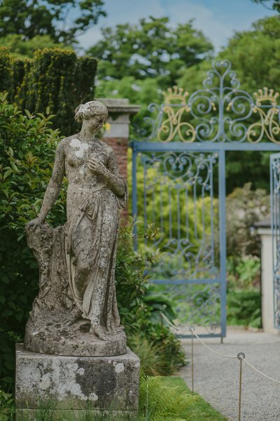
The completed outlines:
[[[161,85],[172,86],[179,69],[201,62],[213,49],[191,20],[172,28],[169,18],[150,17],[104,28],[102,36],[87,51],[100,60],[99,79],[158,77]]]

